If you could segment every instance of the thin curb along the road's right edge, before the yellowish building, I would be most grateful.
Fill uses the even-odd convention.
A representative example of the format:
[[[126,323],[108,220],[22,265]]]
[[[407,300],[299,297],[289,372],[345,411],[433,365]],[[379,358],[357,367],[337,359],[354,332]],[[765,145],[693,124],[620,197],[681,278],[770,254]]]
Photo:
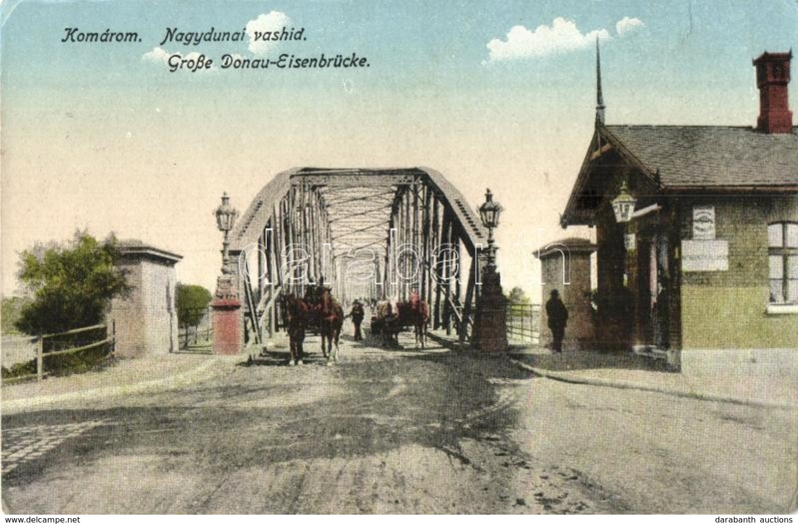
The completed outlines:
[[[777,408],[777,409],[796,408],[796,406],[793,404],[784,404],[780,402],[741,399],[735,396],[720,395],[716,393],[707,393],[707,392],[679,391],[673,388],[664,388],[655,385],[639,384],[637,382],[625,382],[623,380],[611,380],[611,379],[602,379],[598,377],[587,377],[587,376],[573,376],[569,372],[557,372],[557,371],[549,371],[547,369],[534,368],[531,365],[519,362],[514,358],[510,358],[510,360],[512,360],[513,364],[516,364],[520,368],[523,368],[528,372],[535,374],[536,376],[542,376],[543,378],[557,380],[559,382],[567,382],[568,384],[585,384],[591,386],[602,386],[605,388],[617,388],[617,389],[637,389],[639,391],[662,393],[664,395],[670,395],[670,396],[681,396],[693,400],[725,402],[728,404],[744,404],[749,406],[757,406],[760,408]]]

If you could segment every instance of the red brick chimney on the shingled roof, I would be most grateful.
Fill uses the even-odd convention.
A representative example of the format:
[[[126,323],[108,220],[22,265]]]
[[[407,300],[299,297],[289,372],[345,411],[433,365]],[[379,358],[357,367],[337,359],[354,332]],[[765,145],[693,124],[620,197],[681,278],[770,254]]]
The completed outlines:
[[[753,65],[757,66],[757,88],[759,88],[758,131],[792,132],[792,111],[787,100],[790,59],[792,59],[792,49],[788,53],[766,51],[753,61]]]

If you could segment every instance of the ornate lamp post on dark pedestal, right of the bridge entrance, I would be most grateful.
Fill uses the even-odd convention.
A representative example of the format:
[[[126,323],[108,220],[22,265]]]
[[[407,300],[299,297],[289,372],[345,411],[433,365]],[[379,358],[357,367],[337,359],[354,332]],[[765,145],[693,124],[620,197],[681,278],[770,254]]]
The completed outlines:
[[[482,270],[482,293],[476,301],[474,317],[474,345],[484,351],[507,349],[507,299],[502,294],[501,276],[496,272],[496,242],[493,230],[499,225],[503,207],[493,201],[490,189],[480,206],[482,225],[488,229],[488,247],[484,249],[487,263]]]

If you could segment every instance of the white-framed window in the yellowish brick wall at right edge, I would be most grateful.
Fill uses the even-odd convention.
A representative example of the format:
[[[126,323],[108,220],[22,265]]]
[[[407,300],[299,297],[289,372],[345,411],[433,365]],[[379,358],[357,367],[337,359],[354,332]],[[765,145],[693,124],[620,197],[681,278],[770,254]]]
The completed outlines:
[[[798,223],[768,224],[770,303],[798,304]]]

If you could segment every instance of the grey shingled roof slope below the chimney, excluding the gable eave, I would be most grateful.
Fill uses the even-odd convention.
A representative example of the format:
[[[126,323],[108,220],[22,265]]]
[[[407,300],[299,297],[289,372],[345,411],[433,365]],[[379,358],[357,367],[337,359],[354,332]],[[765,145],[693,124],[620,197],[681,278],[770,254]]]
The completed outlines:
[[[798,127],[607,125],[601,134],[668,187],[784,186],[798,183]]]

